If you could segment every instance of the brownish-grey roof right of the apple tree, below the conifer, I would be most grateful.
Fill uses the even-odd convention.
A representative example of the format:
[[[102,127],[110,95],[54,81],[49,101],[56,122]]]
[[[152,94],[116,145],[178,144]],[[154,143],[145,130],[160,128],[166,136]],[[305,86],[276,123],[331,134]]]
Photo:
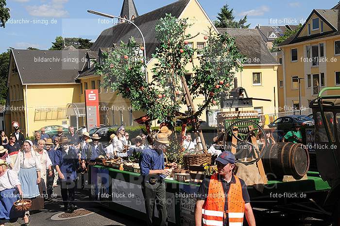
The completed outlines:
[[[227,33],[235,38],[239,52],[251,59],[251,62],[244,62],[244,65],[277,63],[257,29],[217,28],[217,30],[221,34]],[[257,62],[253,59],[259,60]]]

